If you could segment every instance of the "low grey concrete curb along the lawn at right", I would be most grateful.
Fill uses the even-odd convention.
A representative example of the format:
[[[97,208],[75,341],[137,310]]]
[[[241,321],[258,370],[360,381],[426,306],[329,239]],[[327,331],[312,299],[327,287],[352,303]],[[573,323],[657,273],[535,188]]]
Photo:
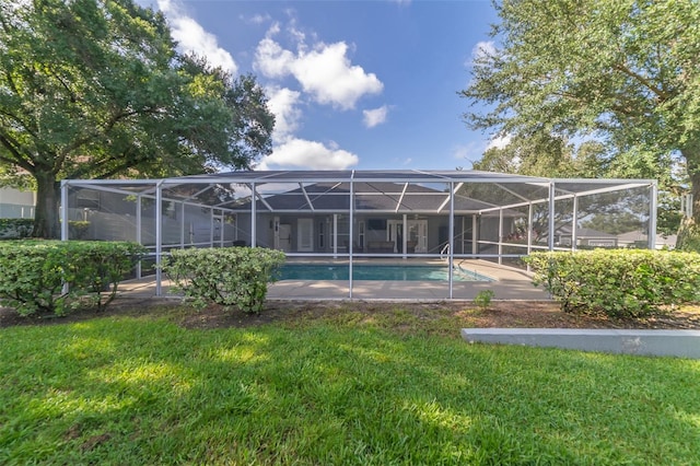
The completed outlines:
[[[469,342],[700,359],[700,330],[463,328]]]

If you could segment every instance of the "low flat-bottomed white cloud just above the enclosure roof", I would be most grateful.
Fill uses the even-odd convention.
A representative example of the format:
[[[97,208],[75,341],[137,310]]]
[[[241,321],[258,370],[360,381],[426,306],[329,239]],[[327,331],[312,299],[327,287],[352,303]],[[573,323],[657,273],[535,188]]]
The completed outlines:
[[[291,139],[273,149],[256,170],[345,170],[357,165],[358,156],[338,149],[335,143],[327,147],[320,142]]]

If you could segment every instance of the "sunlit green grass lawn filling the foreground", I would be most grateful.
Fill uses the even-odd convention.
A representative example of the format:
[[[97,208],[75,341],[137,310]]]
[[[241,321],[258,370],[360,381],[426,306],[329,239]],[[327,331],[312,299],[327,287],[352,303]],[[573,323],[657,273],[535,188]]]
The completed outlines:
[[[700,362],[468,345],[447,314],[0,330],[1,464],[696,464]]]

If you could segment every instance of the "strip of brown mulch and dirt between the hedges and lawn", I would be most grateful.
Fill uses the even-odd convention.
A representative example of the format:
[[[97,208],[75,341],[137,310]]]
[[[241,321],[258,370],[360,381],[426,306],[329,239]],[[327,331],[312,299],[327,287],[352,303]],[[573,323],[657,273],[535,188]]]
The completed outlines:
[[[527,328],[656,328],[700,329],[700,310],[685,307],[664,316],[645,319],[611,319],[605,316],[568,314],[555,302],[495,301],[488,308],[472,302],[377,302],[377,301],[277,301],[270,300],[259,314],[224,311],[209,306],[203,311],[183,311],[173,300],[116,300],[104,312],[78,311],[68,316],[21,317],[12,310],[0,308],[0,327],[15,325],[54,325],[86,321],[101,316],[160,316],[172,314],[187,328],[255,327],[275,323],[322,318],[347,313],[354,318],[371,318],[377,313],[401,310],[415,317],[458,318],[463,327],[527,327]]]

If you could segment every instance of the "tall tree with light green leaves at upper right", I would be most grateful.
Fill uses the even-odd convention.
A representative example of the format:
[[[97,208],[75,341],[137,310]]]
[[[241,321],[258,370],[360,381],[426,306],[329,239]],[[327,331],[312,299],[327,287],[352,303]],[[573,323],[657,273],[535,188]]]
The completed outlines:
[[[460,95],[469,127],[597,141],[608,173],[685,161],[700,224],[700,7],[695,0],[504,0],[500,40]],[[670,183],[670,182],[669,182]]]

